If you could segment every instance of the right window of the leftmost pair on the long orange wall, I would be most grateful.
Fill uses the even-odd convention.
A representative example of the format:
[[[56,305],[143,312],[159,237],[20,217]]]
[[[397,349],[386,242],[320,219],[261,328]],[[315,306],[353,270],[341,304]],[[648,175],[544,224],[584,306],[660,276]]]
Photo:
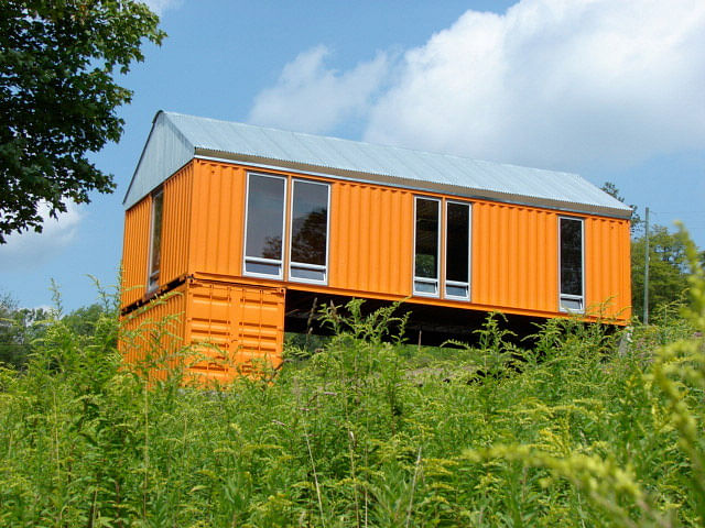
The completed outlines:
[[[295,179],[291,209],[289,276],[299,282],[326,282],[329,186]]]

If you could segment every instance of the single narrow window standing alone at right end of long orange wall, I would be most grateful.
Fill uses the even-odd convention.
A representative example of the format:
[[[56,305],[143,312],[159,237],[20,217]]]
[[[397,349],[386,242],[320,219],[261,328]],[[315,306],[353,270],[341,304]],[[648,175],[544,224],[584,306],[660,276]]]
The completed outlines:
[[[583,311],[583,220],[560,218],[561,310]]]

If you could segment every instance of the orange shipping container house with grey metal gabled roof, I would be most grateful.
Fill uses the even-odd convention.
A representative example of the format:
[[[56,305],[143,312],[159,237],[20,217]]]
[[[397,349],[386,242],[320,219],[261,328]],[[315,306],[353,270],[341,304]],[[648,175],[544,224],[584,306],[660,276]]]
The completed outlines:
[[[278,364],[314,301],[406,299],[430,339],[630,317],[631,210],[575,174],[160,111],[124,207],[123,317],[173,316],[224,380],[208,358]]]

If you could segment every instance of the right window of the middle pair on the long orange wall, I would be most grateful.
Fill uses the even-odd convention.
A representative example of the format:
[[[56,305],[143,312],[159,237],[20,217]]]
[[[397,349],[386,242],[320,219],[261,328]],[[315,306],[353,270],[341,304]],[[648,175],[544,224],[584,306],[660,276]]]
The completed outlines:
[[[446,202],[445,296],[470,297],[470,205]]]

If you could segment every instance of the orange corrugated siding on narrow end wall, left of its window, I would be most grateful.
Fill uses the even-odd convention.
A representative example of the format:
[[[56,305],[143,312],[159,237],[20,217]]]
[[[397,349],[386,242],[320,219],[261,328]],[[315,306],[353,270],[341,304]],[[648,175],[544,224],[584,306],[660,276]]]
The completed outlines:
[[[144,295],[149,258],[152,197],[147,196],[124,213],[122,241],[121,306],[135,302]]]

